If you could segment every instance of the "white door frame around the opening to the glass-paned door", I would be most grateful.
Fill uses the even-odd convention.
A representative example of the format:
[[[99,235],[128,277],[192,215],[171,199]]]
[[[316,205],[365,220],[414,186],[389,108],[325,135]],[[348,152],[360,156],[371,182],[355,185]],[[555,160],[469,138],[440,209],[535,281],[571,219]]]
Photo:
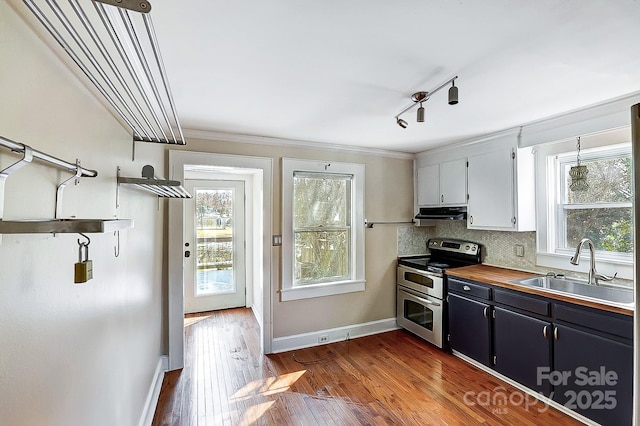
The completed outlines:
[[[261,277],[255,276],[257,289],[261,291],[261,300],[254,299],[254,315],[260,326],[260,347],[263,354],[271,353],[273,343],[273,310],[272,298],[272,227],[273,227],[273,159],[265,157],[250,157],[232,154],[216,154],[210,152],[195,151],[169,151],[169,175],[170,179],[184,181],[185,165],[202,165],[213,167],[233,167],[258,171],[262,179],[261,206],[254,208],[262,213],[261,231],[254,230],[254,235],[262,235],[261,244],[256,244],[256,249],[261,249],[262,256],[254,258],[254,261],[262,259]],[[183,200],[169,200],[168,218],[168,356],[169,370],[177,370],[184,367],[184,202]],[[259,279],[261,278],[261,280]],[[258,286],[258,284],[261,284]],[[256,306],[256,305],[261,306]],[[258,309],[256,309],[258,308]],[[261,309],[260,309],[261,308]]]

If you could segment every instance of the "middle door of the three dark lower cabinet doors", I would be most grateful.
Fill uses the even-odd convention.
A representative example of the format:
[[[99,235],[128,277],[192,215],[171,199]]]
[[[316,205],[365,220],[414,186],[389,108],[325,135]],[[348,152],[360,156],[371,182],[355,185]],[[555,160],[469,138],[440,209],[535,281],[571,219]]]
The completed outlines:
[[[538,379],[539,371],[551,370],[551,323],[499,307],[494,308],[493,316],[495,370],[551,396],[549,381]]]

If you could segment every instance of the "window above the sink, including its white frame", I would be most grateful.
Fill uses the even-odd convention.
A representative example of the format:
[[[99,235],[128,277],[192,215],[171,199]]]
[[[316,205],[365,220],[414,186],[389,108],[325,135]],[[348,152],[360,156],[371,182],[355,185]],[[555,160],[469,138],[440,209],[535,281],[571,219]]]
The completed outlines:
[[[624,135],[615,133],[618,142]],[[570,189],[569,170],[576,165],[575,141],[538,149],[537,197],[546,200],[538,203],[538,265],[584,272],[588,261],[573,267],[568,259],[580,240],[589,238],[596,248],[599,271],[632,279],[631,146],[610,144],[612,136],[593,136],[581,144],[581,164],[588,170],[588,188],[581,191]]]

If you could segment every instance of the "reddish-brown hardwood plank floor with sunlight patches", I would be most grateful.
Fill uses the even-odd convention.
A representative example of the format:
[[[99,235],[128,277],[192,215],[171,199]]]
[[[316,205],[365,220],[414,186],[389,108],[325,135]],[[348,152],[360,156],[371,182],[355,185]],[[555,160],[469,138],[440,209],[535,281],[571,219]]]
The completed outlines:
[[[190,315],[153,425],[573,425],[402,330],[260,354],[249,309]]]

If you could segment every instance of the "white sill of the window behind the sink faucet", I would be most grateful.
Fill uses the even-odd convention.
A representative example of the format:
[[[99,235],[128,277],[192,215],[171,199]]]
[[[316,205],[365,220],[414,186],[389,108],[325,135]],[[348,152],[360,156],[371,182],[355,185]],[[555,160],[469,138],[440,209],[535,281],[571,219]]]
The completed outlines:
[[[555,269],[564,269],[572,272],[582,272],[584,274],[589,273],[589,255],[583,254],[580,256],[580,264],[572,265],[569,262],[571,259],[570,254],[557,254],[557,253],[536,253],[536,264],[538,266],[546,266]],[[618,274],[617,278],[632,280],[633,279],[633,260],[612,260],[606,258],[599,258],[596,254],[596,269],[601,274],[613,276]]]

